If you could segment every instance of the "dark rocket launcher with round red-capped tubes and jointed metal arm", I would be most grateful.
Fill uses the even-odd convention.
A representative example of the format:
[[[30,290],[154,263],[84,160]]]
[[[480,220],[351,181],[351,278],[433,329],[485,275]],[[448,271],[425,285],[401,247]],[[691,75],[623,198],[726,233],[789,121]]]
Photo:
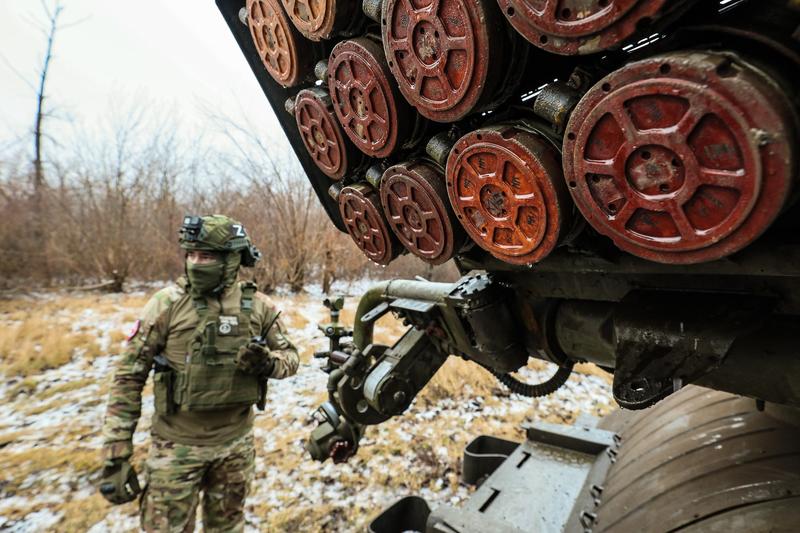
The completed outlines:
[[[463,276],[373,288],[352,343],[334,320],[315,458],[451,355],[529,395],[592,362],[642,413],[688,384],[800,407],[797,2],[353,4],[217,0],[331,222],[378,264]],[[388,312],[410,327],[380,346]],[[529,357],[559,370],[520,383]]]

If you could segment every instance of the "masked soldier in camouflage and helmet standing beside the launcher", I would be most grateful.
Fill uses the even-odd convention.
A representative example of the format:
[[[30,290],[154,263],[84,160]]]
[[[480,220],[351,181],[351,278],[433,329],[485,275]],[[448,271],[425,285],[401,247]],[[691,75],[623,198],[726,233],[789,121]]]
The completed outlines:
[[[180,234],[186,276],[147,303],[114,374],[100,492],[114,504],[140,492],[129,461],[153,369],[142,528],[191,531],[202,490],[205,530],[242,531],[255,464],[252,406],[264,409],[267,378],[297,371],[297,350],[266,296],[237,282],[239,267],[261,256],[241,224],[187,216]]]

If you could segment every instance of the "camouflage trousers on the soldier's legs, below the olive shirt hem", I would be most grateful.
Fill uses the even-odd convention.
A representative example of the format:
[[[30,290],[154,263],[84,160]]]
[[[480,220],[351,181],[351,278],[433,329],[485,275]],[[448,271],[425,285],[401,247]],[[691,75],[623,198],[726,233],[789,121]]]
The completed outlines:
[[[142,529],[191,532],[202,491],[205,531],[242,531],[244,502],[255,471],[253,432],[224,446],[189,446],[153,435]]]

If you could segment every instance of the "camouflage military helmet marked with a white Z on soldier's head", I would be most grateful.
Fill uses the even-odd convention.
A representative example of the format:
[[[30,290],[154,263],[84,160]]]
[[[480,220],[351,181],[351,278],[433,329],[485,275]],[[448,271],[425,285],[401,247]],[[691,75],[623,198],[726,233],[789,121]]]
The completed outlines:
[[[251,267],[261,259],[244,226],[225,215],[186,215],[180,229],[184,250],[209,252],[241,252],[242,266]]]

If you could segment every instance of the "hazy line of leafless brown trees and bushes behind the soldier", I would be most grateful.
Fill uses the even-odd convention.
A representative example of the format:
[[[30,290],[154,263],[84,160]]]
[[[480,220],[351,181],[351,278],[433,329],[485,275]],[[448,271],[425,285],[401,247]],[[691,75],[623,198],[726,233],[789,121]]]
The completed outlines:
[[[242,221],[264,252],[248,275],[267,291],[453,275],[410,256],[387,269],[372,265],[330,223],[291,156],[248,127],[223,121],[223,151],[202,136],[187,141],[146,109],[60,144],[45,158],[43,179],[23,152],[0,154],[0,288],[121,290],[132,280],[174,278],[183,271],[177,230],[185,213]]]

